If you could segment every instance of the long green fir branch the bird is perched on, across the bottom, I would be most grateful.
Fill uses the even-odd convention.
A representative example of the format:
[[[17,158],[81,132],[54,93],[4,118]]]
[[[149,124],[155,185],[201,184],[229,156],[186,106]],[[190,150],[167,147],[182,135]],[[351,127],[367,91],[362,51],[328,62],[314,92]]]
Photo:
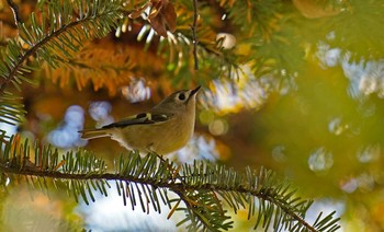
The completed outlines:
[[[149,210],[148,204],[160,211],[160,198],[170,209],[172,202],[182,200],[187,208],[177,204],[171,211],[184,211],[187,218],[179,224],[188,222],[187,228],[191,231],[228,230],[231,221],[228,221],[222,201],[226,201],[235,212],[248,207],[250,218],[255,216],[257,199],[259,212],[256,228],[262,222],[261,225],[268,229],[272,220],[273,230],[276,231],[282,228],[305,231],[326,228],[327,231],[335,231],[339,228],[338,219],[331,216],[323,219],[319,216],[314,225],[307,223],[304,216],[312,201],[294,198],[295,192],[289,190],[290,186],[285,182],[263,169],[260,173],[247,169],[241,174],[224,165],[201,161],[192,165],[184,164],[176,172],[178,169],[174,163],[168,160],[159,162],[157,154],[148,153],[140,158],[138,152],[131,152],[114,162],[114,173],[108,173],[105,162],[86,151],[67,152],[60,160],[56,149],[42,148],[36,143],[31,148],[27,141],[21,142],[19,137],[12,137],[7,143],[0,142],[0,146],[4,148],[0,151],[0,183],[4,183],[4,178],[12,182],[14,176],[25,176],[26,179],[34,177],[39,188],[47,190],[46,178],[54,182],[61,179],[77,200],[81,196],[88,204],[89,197],[95,200],[93,190],[100,190],[106,196],[105,188],[110,187],[106,181],[115,181],[124,204],[127,199],[138,199],[145,212]],[[180,198],[168,199],[168,190]],[[135,205],[133,202],[132,206]]]

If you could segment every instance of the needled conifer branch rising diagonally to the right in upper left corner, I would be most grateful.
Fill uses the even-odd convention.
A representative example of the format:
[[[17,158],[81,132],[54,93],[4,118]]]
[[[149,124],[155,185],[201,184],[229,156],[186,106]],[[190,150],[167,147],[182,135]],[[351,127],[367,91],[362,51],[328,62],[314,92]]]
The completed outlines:
[[[45,32],[45,30],[47,30],[44,25],[46,22],[43,22],[43,25],[38,25],[36,23],[36,19],[34,16],[34,14],[32,14],[31,16],[31,21],[33,21],[33,25],[32,25],[32,30],[35,30],[33,32],[29,32],[26,28],[25,28],[25,25],[23,24],[22,25],[22,32],[25,34],[23,37],[23,40],[24,43],[29,44],[30,45],[30,48],[26,49],[25,51],[22,51],[23,48],[20,46],[20,44],[18,42],[10,42],[11,44],[9,45],[9,50],[8,50],[8,55],[12,55],[12,51],[11,49],[19,49],[19,56],[16,57],[12,57],[12,60],[10,61],[10,63],[4,63],[4,66],[7,67],[7,74],[3,76],[4,80],[3,82],[1,83],[0,85],[0,95],[2,95],[5,91],[5,88],[14,81],[14,79],[18,78],[18,74],[20,76],[21,73],[23,73],[25,70],[23,70],[24,68],[24,65],[25,65],[25,61],[31,57],[31,56],[34,56],[36,55],[36,53],[41,49],[47,49],[47,47],[50,45],[50,46],[58,46],[58,48],[61,48],[61,45],[57,42],[55,42],[56,39],[59,39],[60,36],[64,35],[64,39],[60,40],[60,43],[63,43],[64,45],[63,46],[68,46],[69,49],[72,49],[72,50],[77,50],[78,48],[75,47],[75,45],[70,45],[70,43],[68,43],[68,40],[66,39],[74,39],[74,42],[77,42],[79,43],[81,40],[79,36],[79,34],[72,34],[74,33],[74,30],[79,26],[79,25],[83,25],[84,26],[84,31],[89,30],[87,28],[87,24],[89,23],[92,23],[92,24],[95,24],[94,26],[105,26],[105,27],[102,27],[102,28],[95,28],[95,30],[99,30],[99,31],[105,31],[105,30],[110,30],[108,27],[112,27],[112,26],[116,26],[116,22],[109,22],[108,21],[108,18],[116,18],[117,15],[120,15],[122,12],[120,11],[120,8],[115,8],[115,9],[109,9],[108,11],[101,11],[101,12],[98,12],[98,10],[101,7],[100,2],[97,2],[97,0],[94,0],[95,2],[91,3],[90,1],[88,2],[88,4],[92,5],[94,9],[93,11],[93,14],[90,13],[90,10],[92,7],[88,7],[90,9],[88,9],[88,12],[86,13],[86,15],[82,15],[84,14],[84,12],[79,12],[80,18],[77,18],[77,20],[75,21],[71,21],[71,22],[68,22],[66,24],[66,22],[61,22],[61,21],[68,21],[69,19],[71,19],[70,15],[65,15],[65,14],[72,14],[72,12],[67,12],[68,9],[71,9],[69,7],[67,7],[66,4],[71,4],[70,2],[68,1],[65,1],[64,2],[64,5],[63,5],[63,9],[61,9],[61,5],[57,5],[59,4],[59,2],[53,2],[53,10],[52,11],[58,11],[58,12],[55,12],[59,15],[60,19],[57,19],[58,22],[60,22],[60,25],[55,28],[55,21],[53,21],[54,19],[50,19],[50,28],[49,31],[50,32]],[[117,3],[116,3],[117,2]],[[120,5],[118,1],[114,2],[115,5]],[[103,2],[104,4],[109,4],[106,2]],[[55,5],[56,4],[56,5]],[[80,3],[81,5],[82,3]],[[112,3],[111,3],[112,4]],[[79,11],[82,11],[83,9],[79,9]],[[50,16],[56,16],[56,15],[50,15]],[[63,18],[63,19],[61,19]],[[106,23],[98,23],[98,20],[105,20]],[[61,25],[63,23],[63,25]],[[93,25],[92,25],[93,26]],[[32,35],[32,33],[35,34],[35,36]],[[78,32],[76,32],[78,33]],[[98,35],[99,33],[98,32],[92,32],[94,35]],[[66,37],[68,36],[68,37]],[[77,37],[76,37],[77,36]],[[38,39],[38,37],[41,37],[41,39]],[[53,43],[53,44],[50,44]],[[81,44],[79,44],[81,46]],[[70,56],[68,54],[68,51],[66,51],[65,49],[61,48],[61,51],[64,53],[65,56]],[[7,56],[5,54],[3,54],[3,56]],[[50,54],[52,56],[52,54]],[[49,62],[49,59],[53,59],[54,57],[49,57],[49,54],[46,54],[46,56],[44,56],[44,58],[47,59],[47,61]],[[52,62],[52,61],[50,61]],[[29,69],[29,68],[26,68]]]

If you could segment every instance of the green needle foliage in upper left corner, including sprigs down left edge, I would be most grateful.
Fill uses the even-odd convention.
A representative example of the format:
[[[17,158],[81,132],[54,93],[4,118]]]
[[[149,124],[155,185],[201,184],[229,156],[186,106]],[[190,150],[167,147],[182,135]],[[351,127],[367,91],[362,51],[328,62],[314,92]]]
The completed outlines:
[[[23,112],[18,111],[22,106],[5,92],[8,85],[12,84],[20,91],[23,82],[33,83],[26,73],[37,70],[41,62],[58,68],[72,57],[72,53],[79,51],[84,39],[104,37],[118,25],[121,4],[121,1],[104,0],[49,1],[43,5],[46,9],[38,18],[31,14],[31,25],[18,24],[19,37],[11,39],[1,50],[0,109],[4,114],[0,118],[8,118],[2,119],[4,123],[22,119]],[[14,111],[20,113],[12,114]]]

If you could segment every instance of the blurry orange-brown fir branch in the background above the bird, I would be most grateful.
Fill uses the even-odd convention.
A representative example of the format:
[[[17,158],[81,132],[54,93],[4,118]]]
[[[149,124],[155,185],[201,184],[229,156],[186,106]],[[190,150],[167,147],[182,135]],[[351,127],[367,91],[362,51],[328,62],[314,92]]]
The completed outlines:
[[[121,50],[84,48],[63,62],[60,68],[52,69],[48,63],[44,63],[43,70],[47,73],[48,79],[52,79],[54,83],[59,83],[60,86],[74,83],[70,81],[72,79],[78,90],[82,90],[91,82],[94,91],[105,88],[111,95],[115,95],[120,86],[131,83],[137,76],[136,70],[143,68],[139,66],[145,65],[144,61],[140,62],[140,56],[135,51],[127,48],[121,48]],[[105,60],[105,57],[109,57],[109,60]],[[147,60],[148,57],[145,61]]]

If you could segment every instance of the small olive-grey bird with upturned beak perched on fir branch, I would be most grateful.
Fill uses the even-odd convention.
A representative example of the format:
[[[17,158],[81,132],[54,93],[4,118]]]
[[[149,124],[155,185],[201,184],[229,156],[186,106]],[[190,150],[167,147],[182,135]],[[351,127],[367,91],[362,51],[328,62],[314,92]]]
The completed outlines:
[[[83,139],[111,137],[126,149],[140,153],[155,151],[165,155],[183,148],[192,138],[196,93],[181,90],[172,93],[147,113],[133,115],[100,129],[84,129]]]

